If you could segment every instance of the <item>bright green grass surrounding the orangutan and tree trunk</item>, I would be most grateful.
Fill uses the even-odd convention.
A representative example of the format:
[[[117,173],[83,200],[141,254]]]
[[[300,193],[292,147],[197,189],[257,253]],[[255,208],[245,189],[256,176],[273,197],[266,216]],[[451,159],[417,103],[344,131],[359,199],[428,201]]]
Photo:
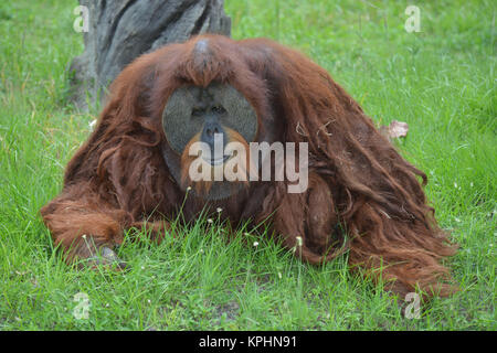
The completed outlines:
[[[161,245],[119,249],[127,272],[75,270],[39,216],[64,165],[89,133],[89,114],[66,104],[76,1],[0,2],[1,330],[496,330],[496,6],[416,1],[226,0],[235,39],[267,36],[326,67],[378,124],[406,121],[403,156],[426,171],[462,290],[405,319],[394,299],[347,270],[321,268],[243,229],[199,222]],[[96,111],[92,111],[96,114]],[[253,246],[257,240],[260,245]],[[89,299],[77,320],[74,296]]]

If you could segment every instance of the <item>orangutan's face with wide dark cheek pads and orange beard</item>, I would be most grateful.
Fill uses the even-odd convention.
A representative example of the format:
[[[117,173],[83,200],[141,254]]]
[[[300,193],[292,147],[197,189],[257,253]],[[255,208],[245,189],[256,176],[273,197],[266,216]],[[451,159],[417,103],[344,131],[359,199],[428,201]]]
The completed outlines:
[[[258,119],[239,90],[219,83],[180,87],[167,101],[162,127],[170,148],[166,162],[183,189],[193,185],[198,195],[216,200],[243,188],[235,178],[215,178],[235,162],[236,173],[248,171],[248,145],[257,137]],[[205,178],[192,176],[199,171]]]

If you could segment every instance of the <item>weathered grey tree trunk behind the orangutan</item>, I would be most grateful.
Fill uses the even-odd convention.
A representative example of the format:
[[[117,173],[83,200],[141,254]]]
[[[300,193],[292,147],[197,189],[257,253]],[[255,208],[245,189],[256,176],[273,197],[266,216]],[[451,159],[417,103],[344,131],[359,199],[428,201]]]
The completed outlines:
[[[80,0],[88,9],[85,51],[70,67],[78,109],[99,103],[105,88],[139,55],[193,34],[230,35],[224,0]],[[84,17],[83,17],[84,18]]]

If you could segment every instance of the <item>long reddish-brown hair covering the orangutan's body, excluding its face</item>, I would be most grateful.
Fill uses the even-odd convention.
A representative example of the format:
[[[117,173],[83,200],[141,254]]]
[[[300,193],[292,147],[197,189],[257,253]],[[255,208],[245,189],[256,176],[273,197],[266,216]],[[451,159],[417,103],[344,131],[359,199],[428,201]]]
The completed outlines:
[[[199,41],[207,50],[198,50]],[[278,141],[307,142],[309,150],[305,193],[288,194],[286,182],[257,182],[215,203],[225,217],[269,217],[283,245],[313,264],[348,250],[352,267],[399,292],[416,286],[451,292],[441,259],[455,250],[426,203],[426,175],[324,68],[264,39],[197,36],[126,67],[95,131],[68,163],[62,194],[42,208],[57,244],[77,243],[82,234],[118,242],[137,222],[177,214],[186,193],[163,160],[162,111],[178,87],[212,82],[243,93],[262,129],[273,126]],[[182,211],[193,217],[203,204],[191,200]]]

